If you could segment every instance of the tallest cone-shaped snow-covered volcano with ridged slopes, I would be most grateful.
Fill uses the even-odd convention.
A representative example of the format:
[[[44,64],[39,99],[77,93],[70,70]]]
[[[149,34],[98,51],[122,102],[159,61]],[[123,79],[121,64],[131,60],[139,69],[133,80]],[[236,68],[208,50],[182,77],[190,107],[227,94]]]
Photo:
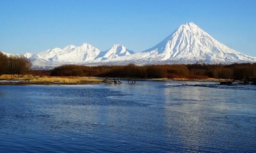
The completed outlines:
[[[158,61],[232,63],[254,61],[255,57],[241,54],[218,42],[194,23],[182,24],[154,47],[143,51]],[[166,62],[167,62],[166,61]]]

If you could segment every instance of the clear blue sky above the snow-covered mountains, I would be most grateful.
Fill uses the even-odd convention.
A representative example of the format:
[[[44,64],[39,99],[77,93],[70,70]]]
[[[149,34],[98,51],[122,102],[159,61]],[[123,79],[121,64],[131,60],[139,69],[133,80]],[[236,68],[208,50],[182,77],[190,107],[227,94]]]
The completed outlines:
[[[120,44],[140,52],[189,22],[256,57],[256,0],[0,0],[0,51],[86,42],[100,51]]]

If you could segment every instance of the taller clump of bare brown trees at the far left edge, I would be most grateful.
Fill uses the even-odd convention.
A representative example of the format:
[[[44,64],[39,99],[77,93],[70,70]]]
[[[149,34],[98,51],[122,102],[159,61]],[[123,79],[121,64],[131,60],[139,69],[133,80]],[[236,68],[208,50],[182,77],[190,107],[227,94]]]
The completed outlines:
[[[0,52],[0,75],[28,74],[32,63],[24,55],[7,56]]]

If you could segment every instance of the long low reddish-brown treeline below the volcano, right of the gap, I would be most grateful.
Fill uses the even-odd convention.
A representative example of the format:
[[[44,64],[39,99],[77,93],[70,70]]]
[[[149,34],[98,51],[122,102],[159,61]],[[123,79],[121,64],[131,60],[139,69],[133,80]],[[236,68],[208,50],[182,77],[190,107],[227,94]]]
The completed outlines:
[[[188,79],[255,79],[256,63],[187,64],[187,65],[145,65],[125,66],[79,66],[62,65],[54,68],[51,76],[80,77],[129,77],[129,78],[188,78]]]

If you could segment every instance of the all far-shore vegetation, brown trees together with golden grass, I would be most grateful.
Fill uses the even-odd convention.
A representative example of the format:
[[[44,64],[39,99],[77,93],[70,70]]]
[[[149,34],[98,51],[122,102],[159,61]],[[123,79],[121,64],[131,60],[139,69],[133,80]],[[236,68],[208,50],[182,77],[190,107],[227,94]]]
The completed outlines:
[[[52,70],[31,70],[23,55],[0,52],[0,80],[23,83],[99,83],[98,78],[134,78],[180,81],[256,80],[256,63],[172,65],[62,65]]]

